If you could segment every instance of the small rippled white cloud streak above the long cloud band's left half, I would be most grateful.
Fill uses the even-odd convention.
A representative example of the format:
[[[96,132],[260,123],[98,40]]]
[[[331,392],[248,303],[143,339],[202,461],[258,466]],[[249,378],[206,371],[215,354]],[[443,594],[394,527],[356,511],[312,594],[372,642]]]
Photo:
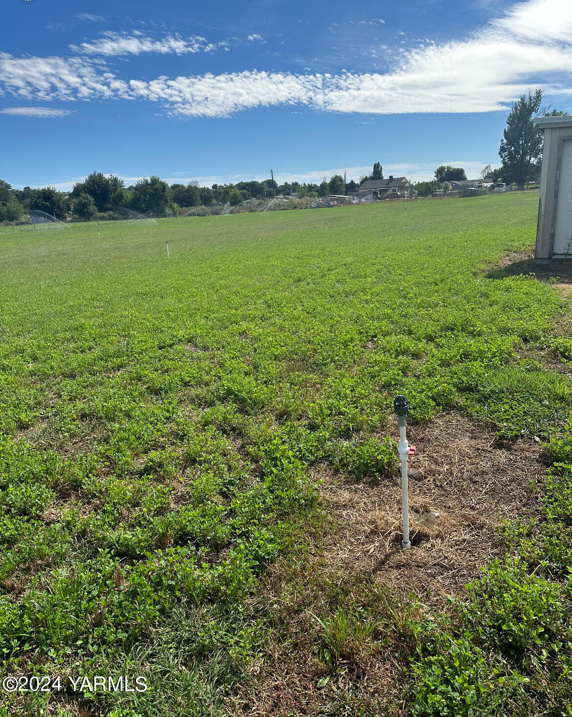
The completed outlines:
[[[181,37],[168,34],[161,39],[154,39],[144,32],[135,30],[131,33],[104,32],[99,39],[82,42],[80,45],[70,45],[70,49],[82,54],[106,56],[142,54],[144,52],[187,54],[189,52],[212,52],[216,49],[216,45],[207,42],[205,37],[200,37],[200,35]]]

